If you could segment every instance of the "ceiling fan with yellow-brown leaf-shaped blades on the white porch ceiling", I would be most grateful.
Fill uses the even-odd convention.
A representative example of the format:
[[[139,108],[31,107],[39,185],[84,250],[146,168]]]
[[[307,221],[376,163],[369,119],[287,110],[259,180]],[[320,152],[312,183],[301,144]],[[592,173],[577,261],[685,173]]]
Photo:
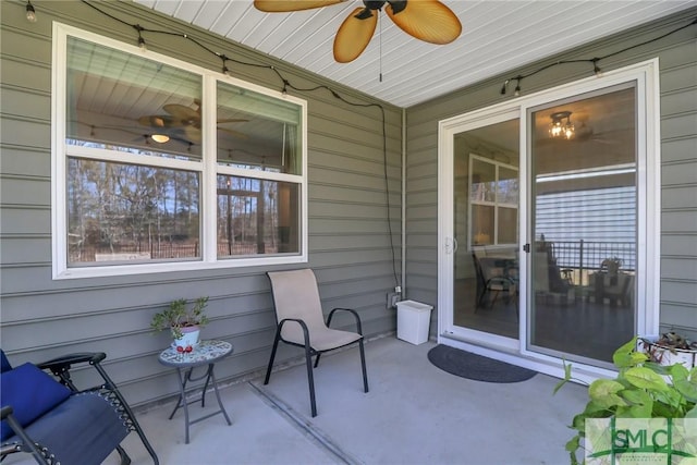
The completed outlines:
[[[267,13],[281,13],[343,3],[346,0],[254,0],[254,7]],[[386,7],[387,3],[387,7]],[[334,60],[348,63],[355,60],[370,42],[378,23],[377,12],[384,10],[406,34],[430,42],[444,45],[460,37],[462,24],[439,0],[382,0],[363,1],[341,24],[334,37]]]

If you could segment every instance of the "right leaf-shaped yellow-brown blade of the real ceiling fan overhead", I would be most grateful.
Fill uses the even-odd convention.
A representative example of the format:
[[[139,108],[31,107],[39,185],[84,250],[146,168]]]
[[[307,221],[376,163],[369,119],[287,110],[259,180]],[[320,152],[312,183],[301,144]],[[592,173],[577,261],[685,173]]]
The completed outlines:
[[[462,33],[455,13],[438,0],[408,0],[399,13],[392,11],[392,5],[386,11],[406,34],[430,44],[450,44]]]

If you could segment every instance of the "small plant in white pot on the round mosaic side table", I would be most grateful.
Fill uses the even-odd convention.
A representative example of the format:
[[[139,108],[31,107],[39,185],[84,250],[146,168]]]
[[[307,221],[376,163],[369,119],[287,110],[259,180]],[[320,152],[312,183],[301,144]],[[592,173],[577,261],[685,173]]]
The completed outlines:
[[[198,297],[188,306],[185,298],[178,298],[170,303],[169,308],[155,314],[150,321],[152,331],[169,329],[172,331],[174,344],[180,352],[191,352],[198,344],[200,329],[208,325],[208,317],[204,313],[208,297]]]

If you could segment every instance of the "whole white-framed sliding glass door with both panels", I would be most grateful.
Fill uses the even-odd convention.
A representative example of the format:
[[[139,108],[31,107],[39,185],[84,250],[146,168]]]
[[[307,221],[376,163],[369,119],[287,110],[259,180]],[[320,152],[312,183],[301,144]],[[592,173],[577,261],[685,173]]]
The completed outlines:
[[[439,123],[439,342],[601,374],[658,332],[658,100],[647,61]]]

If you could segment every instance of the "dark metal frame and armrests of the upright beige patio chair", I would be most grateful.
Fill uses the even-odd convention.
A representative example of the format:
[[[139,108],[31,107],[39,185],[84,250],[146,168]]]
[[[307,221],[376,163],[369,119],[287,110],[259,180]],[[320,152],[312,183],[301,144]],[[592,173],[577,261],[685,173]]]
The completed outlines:
[[[267,276],[269,277],[269,280],[271,279],[271,277],[269,276],[269,273],[267,272]],[[271,281],[272,283],[272,281]],[[315,282],[316,284],[316,282]],[[273,285],[273,284],[271,284]],[[273,292],[271,293],[273,296],[273,305],[276,307],[276,295],[273,295]],[[333,351],[335,348],[340,348],[340,347],[344,347],[351,344],[355,344],[356,342],[358,343],[358,350],[360,352],[360,368],[363,371],[363,388],[364,388],[364,392],[368,392],[368,374],[366,370],[366,355],[365,355],[365,348],[364,348],[364,344],[363,344],[363,327],[360,325],[360,317],[358,316],[358,313],[354,309],[351,308],[333,308],[328,317],[327,317],[327,321],[326,321],[326,326],[327,328],[330,327],[331,325],[331,320],[332,317],[334,316],[334,313],[337,311],[348,311],[351,315],[354,316],[355,321],[356,321],[356,333],[360,335],[360,338],[357,341],[353,341],[350,342],[347,344],[342,344],[342,345],[338,345],[328,350],[323,350],[323,351],[318,351],[315,347],[311,346],[310,343],[310,334],[309,334],[309,329],[307,327],[307,323],[305,321],[303,321],[299,318],[285,318],[282,319],[281,321],[278,321],[278,314],[277,314],[277,329],[276,329],[276,336],[273,339],[273,347],[271,348],[271,357],[269,358],[269,365],[267,367],[267,371],[266,371],[266,377],[264,378],[264,384],[268,384],[269,383],[269,379],[271,377],[271,370],[273,368],[273,359],[276,358],[276,353],[279,346],[279,342],[283,341],[286,344],[296,346],[296,347],[302,347],[305,351],[305,365],[307,367],[307,383],[309,386],[309,400],[310,400],[310,408],[311,408],[311,415],[313,417],[317,416],[317,401],[316,401],[316,396],[315,396],[315,378],[313,376],[313,369],[317,368],[317,366],[319,365],[319,358],[321,357],[321,355],[326,352],[330,352]],[[283,339],[281,332],[282,329],[285,325],[299,325],[299,327],[303,330],[303,338],[304,338],[304,343],[303,344],[298,344],[292,341],[286,341],[285,339]],[[315,364],[313,366],[313,357],[315,358]]]

